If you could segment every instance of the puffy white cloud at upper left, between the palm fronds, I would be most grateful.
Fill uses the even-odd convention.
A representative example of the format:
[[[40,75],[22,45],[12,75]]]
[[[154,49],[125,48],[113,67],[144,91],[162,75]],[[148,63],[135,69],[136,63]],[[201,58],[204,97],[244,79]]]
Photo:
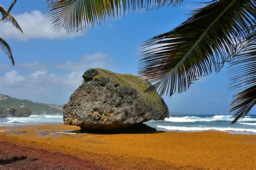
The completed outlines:
[[[0,23],[0,37],[26,41],[28,39],[62,39],[83,33],[67,35],[65,30],[54,31],[49,19],[40,11],[25,12],[15,16],[24,34],[8,23]]]

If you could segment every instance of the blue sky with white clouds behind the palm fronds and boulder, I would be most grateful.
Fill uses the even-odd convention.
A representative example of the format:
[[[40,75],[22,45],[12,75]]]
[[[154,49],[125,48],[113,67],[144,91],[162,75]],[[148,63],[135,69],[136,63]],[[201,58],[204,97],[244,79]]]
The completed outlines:
[[[6,8],[10,3],[0,0]],[[51,29],[44,1],[19,0],[11,12],[24,34],[0,23],[0,37],[11,46],[16,62],[12,67],[8,57],[0,52],[0,94],[64,104],[82,83],[82,74],[88,68],[136,74],[143,42],[178,26],[198,6],[194,1],[186,1],[175,8],[130,12],[91,30],[66,36],[64,30]],[[227,66],[192,84],[186,93],[164,96],[169,110],[227,114],[234,94],[228,91]],[[255,113],[254,107],[251,114]]]

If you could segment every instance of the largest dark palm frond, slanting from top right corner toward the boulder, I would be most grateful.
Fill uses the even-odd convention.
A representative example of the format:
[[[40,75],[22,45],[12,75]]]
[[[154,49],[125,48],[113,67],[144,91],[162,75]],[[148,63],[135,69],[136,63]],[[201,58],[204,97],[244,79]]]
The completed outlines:
[[[151,83],[160,82],[159,95],[182,93],[233,58],[232,40],[250,34],[254,9],[249,0],[208,3],[176,29],[145,42],[144,48],[151,49],[142,53],[138,74]]]

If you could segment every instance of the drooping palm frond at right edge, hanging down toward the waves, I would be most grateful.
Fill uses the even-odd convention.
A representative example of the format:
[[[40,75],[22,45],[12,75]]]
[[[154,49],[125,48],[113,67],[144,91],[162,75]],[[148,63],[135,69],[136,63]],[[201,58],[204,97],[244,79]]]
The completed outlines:
[[[255,32],[245,41],[240,42],[242,48],[231,62],[229,74],[233,95],[231,112],[235,111],[232,124],[244,118],[256,103],[256,36]]]

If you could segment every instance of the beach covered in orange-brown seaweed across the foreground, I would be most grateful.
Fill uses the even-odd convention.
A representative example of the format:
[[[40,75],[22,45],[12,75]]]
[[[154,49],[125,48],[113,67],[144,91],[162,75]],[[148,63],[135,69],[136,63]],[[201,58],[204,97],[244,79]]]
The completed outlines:
[[[226,132],[159,132],[152,134],[89,134],[73,133],[79,130],[69,125],[37,125],[0,127],[0,155],[13,158],[24,155],[38,158],[33,162],[59,162],[59,166],[68,169],[111,168],[111,169],[255,169],[256,168],[256,136],[230,134]],[[71,133],[70,133],[71,132]],[[15,145],[14,145],[15,144]],[[4,146],[3,145],[3,146]],[[21,152],[9,152],[10,147],[17,146]],[[29,155],[29,150],[40,150],[42,155]],[[20,149],[21,148],[21,149]],[[8,153],[8,154],[6,154]],[[68,167],[51,154],[70,156]],[[49,159],[49,158],[53,159]],[[65,157],[65,158],[64,158]],[[41,159],[42,158],[42,159]],[[9,158],[6,158],[9,159]],[[2,164],[0,168],[18,168],[17,160],[10,164]],[[77,162],[76,162],[77,161]],[[26,162],[26,164],[30,164]],[[55,164],[55,163],[54,163]],[[87,164],[87,167],[86,167]],[[36,167],[33,167],[36,168]],[[42,168],[41,166],[38,168]],[[47,168],[47,167],[45,167]],[[83,168],[82,168],[83,169]]]

